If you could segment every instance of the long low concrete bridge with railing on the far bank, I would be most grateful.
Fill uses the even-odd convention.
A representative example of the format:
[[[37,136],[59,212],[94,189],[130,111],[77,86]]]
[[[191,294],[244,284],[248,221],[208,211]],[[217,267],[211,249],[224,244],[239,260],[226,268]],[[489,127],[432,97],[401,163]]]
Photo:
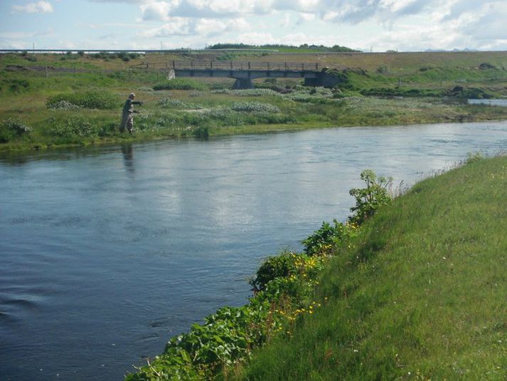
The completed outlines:
[[[240,61],[166,61],[141,63],[131,69],[167,72],[175,77],[235,78],[233,88],[253,88],[255,78],[302,78],[309,86],[333,86],[338,80],[322,71],[319,63],[274,63]]]

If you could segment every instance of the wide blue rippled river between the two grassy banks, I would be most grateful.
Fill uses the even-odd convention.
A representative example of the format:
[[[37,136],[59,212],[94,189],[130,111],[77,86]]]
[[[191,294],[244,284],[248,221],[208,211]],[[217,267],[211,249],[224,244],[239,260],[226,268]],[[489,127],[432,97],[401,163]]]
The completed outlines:
[[[486,122],[4,155],[0,379],[120,380],[246,303],[263,257],[346,219],[363,169],[413,184],[506,149]]]

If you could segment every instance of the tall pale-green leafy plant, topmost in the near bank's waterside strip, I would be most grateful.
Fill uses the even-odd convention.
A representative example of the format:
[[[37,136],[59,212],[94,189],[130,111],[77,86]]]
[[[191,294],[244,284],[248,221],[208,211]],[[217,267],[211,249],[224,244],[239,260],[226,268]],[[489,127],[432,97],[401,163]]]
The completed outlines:
[[[377,177],[371,169],[365,169],[361,172],[361,179],[366,187],[354,188],[349,192],[356,198],[356,205],[351,207],[353,215],[348,217],[348,221],[356,225],[363,224],[379,207],[392,201],[388,188],[393,184],[393,177]]]

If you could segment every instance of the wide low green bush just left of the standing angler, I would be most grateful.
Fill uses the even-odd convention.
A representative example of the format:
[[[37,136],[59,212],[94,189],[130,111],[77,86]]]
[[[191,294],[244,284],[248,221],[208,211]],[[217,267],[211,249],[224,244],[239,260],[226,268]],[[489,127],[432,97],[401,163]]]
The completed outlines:
[[[48,108],[58,108],[62,101],[80,106],[82,108],[97,108],[110,110],[121,106],[117,95],[105,90],[87,90],[83,93],[61,93],[50,97],[46,101]]]

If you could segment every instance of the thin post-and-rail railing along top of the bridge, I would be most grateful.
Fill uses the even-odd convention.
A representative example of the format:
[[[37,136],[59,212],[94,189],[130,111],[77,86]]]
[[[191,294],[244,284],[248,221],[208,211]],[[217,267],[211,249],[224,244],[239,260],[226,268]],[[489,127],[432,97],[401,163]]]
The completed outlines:
[[[139,63],[131,69],[174,69],[174,70],[250,70],[250,71],[319,71],[319,63],[311,62],[258,62],[258,61],[164,61]]]

